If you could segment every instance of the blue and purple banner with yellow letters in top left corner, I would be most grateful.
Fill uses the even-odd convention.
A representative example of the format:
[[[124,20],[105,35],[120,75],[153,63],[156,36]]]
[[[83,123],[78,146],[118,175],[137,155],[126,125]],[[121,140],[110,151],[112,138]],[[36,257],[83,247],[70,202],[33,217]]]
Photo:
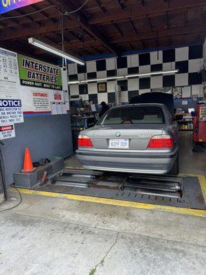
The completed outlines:
[[[43,0],[0,0],[0,14],[41,1]]]

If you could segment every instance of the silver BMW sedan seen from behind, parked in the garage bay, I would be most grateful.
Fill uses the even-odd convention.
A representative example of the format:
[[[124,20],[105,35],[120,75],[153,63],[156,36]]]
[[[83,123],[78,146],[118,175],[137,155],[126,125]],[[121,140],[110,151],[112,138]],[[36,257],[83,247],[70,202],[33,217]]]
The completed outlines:
[[[80,132],[76,155],[92,170],[177,175],[178,126],[164,104],[113,107]]]

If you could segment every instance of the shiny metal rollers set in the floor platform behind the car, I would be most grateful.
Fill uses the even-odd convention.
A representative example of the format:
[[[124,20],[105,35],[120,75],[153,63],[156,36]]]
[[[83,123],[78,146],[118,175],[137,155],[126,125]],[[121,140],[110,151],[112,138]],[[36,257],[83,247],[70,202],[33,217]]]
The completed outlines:
[[[181,198],[181,177],[103,173],[93,170],[65,169],[54,177],[52,184],[78,188],[113,188],[132,190],[139,194]]]

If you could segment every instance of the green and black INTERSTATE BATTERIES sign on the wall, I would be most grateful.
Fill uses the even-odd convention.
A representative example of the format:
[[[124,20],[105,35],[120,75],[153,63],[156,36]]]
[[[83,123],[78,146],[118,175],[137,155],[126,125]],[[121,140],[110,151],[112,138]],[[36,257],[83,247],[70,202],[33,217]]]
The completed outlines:
[[[18,63],[21,85],[62,90],[60,67],[21,54]]]

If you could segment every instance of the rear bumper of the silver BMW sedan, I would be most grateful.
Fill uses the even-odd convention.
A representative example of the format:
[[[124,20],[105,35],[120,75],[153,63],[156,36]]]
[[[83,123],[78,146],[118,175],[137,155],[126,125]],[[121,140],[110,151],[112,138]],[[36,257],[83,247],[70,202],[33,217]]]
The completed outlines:
[[[168,153],[76,151],[82,166],[87,169],[158,175],[170,172],[177,153],[178,148]]]

